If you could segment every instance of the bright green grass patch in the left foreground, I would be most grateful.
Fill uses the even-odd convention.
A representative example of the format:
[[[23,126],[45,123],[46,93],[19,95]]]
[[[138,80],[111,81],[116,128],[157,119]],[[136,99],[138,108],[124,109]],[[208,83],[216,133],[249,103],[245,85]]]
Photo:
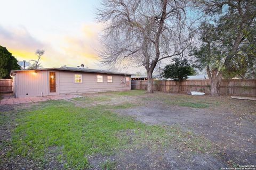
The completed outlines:
[[[111,154],[124,145],[125,140],[116,137],[121,130],[135,129],[143,124],[130,117],[118,117],[98,107],[80,108],[63,101],[31,111],[17,120],[12,143],[14,154],[43,158],[50,147],[62,148],[67,166],[86,167],[84,155]],[[29,154],[29,155],[30,155]]]

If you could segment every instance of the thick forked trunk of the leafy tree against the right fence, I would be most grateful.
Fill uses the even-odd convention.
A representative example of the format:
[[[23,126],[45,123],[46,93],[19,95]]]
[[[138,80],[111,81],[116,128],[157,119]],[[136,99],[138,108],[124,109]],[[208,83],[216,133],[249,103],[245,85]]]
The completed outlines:
[[[211,83],[211,95],[220,96],[220,82],[222,79],[222,72],[218,71],[218,69],[213,69],[210,72],[209,68],[207,68],[206,71]]]

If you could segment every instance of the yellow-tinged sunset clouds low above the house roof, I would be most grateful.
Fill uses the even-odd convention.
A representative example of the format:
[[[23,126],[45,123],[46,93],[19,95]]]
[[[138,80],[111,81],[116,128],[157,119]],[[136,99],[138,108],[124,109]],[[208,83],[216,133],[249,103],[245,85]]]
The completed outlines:
[[[44,49],[41,61],[44,67],[85,64],[97,68],[99,58],[95,49],[100,47],[100,30],[101,26],[98,24],[84,24],[73,34],[56,37],[49,33],[48,39],[42,42],[31,36],[25,27],[4,28],[0,25],[0,45],[6,47],[18,60],[27,61],[36,58],[36,49]]]

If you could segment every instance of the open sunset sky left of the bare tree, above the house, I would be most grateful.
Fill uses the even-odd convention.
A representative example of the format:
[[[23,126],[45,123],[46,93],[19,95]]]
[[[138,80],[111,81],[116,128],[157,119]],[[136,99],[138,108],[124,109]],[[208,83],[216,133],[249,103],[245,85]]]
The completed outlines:
[[[84,64],[99,69],[102,24],[95,20],[100,1],[0,0],[0,45],[18,61],[35,60],[44,49],[43,67]]]

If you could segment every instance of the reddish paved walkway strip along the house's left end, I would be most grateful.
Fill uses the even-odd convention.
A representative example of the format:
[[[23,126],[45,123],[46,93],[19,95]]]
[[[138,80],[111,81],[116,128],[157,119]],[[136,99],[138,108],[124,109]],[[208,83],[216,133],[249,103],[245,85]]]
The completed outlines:
[[[4,99],[0,100],[0,105],[33,103],[33,102],[46,101],[46,100],[71,99],[73,97],[75,97],[75,95],[56,95],[56,96],[24,97],[24,98],[4,98]]]

